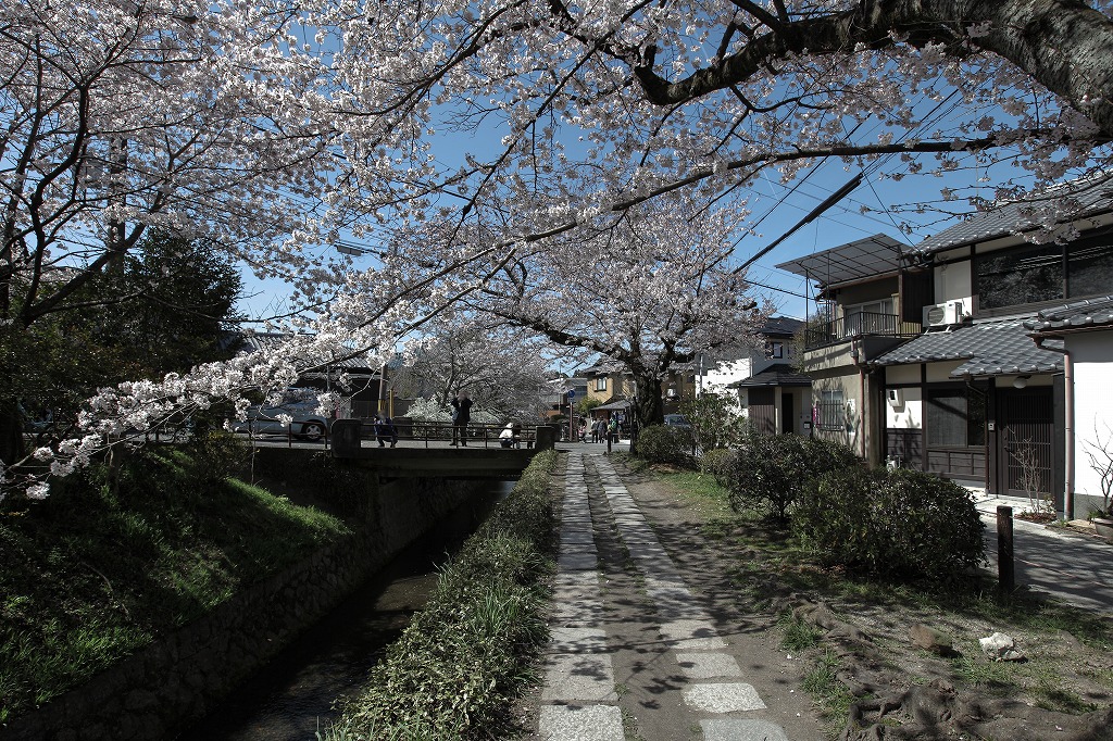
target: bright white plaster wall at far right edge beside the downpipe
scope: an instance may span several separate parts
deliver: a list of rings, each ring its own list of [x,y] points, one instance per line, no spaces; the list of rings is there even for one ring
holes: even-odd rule
[[[1074,490],[1100,497],[1101,478],[1089,453],[1103,444],[1113,453],[1113,330],[1067,335],[1066,348],[1074,359]]]

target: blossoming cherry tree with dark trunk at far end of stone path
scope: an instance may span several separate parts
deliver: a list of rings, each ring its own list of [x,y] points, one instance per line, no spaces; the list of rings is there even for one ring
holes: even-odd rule
[[[699,353],[754,342],[762,312],[731,259],[745,217],[666,196],[516,251],[461,300],[622,366],[639,424],[661,424],[670,373]]]

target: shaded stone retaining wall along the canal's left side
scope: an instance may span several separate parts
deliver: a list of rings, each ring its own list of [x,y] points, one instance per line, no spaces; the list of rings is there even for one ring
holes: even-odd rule
[[[370,482],[361,533],[237,593],[87,684],[10,721],[0,739],[174,738],[483,486],[421,478]]]

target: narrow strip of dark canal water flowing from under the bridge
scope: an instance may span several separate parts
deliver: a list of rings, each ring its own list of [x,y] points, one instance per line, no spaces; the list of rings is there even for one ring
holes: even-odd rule
[[[178,741],[312,741],[355,693],[436,585],[436,570],[506,496],[514,482],[490,488],[413,543],[336,610],[216,707]]]

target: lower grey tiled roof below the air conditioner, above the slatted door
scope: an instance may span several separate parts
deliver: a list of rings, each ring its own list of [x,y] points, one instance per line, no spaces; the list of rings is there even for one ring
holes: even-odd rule
[[[1063,342],[1044,343],[1062,348]],[[966,360],[951,372],[963,376],[999,376],[1018,373],[1062,370],[1063,356],[1036,347],[1023,319],[983,322],[952,332],[929,332],[879,356],[877,365],[906,365],[939,360]]]

